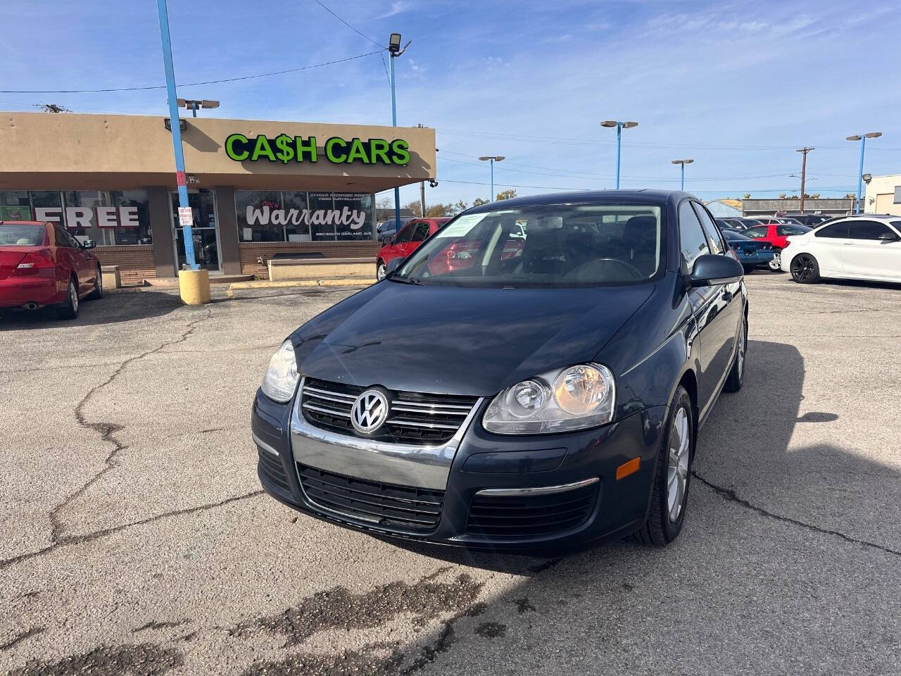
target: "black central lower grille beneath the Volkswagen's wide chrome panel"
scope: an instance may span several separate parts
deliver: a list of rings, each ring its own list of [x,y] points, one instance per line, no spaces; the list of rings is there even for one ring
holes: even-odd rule
[[[320,507],[378,525],[431,531],[441,518],[443,490],[354,479],[297,464],[306,497]]]

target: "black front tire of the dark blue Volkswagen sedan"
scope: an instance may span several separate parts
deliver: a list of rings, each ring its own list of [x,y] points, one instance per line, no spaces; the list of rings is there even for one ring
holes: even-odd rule
[[[680,415],[679,412],[683,413]],[[687,463],[682,470],[678,470],[679,476],[684,471],[684,489],[678,508],[678,515],[671,518],[669,506],[669,446],[671,442],[681,442],[681,438],[673,438],[676,421],[683,421],[687,432]],[[654,488],[651,491],[651,512],[648,520],[633,534],[633,538],[642,544],[651,544],[657,547],[665,547],[678,537],[685,522],[685,513],[688,508],[688,488],[691,485],[691,462],[695,455],[695,416],[692,414],[691,397],[688,397],[686,388],[681,385],[676,388],[669,406],[666,431],[660,442],[660,452],[657,454],[657,470],[654,474]],[[678,434],[676,432],[675,434]],[[681,443],[679,443],[681,447]],[[681,467],[681,466],[680,466]]]

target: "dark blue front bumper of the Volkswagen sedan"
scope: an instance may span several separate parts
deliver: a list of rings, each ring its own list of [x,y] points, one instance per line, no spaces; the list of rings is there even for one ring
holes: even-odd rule
[[[334,524],[470,548],[557,548],[622,536],[641,527],[650,507],[667,407],[647,408],[614,424],[576,433],[502,436],[482,428],[485,406],[487,402],[477,407],[469,420],[443,470],[446,479],[438,486],[440,471],[422,471],[423,447],[409,447],[407,466],[403,459],[359,449],[355,463],[348,463],[345,456],[343,472],[334,471],[333,461],[315,460],[317,453],[324,458],[320,452],[327,452],[321,444],[314,444],[317,453],[305,452],[305,436],[297,434],[297,425],[292,429],[292,405],[278,404],[258,390],[251,429],[259,453],[259,480],[272,497]],[[638,469],[617,480],[617,468],[628,461]],[[409,479],[389,482],[387,476]],[[393,506],[406,500],[414,507],[414,501],[430,500],[428,509],[437,510],[435,523],[410,525],[361,517],[355,509],[323,507],[323,500],[310,497],[314,485],[340,492],[344,504],[370,512],[382,508],[375,507],[383,502],[377,495],[392,496]],[[435,503],[440,504],[434,507]],[[571,511],[575,507],[578,513]]]

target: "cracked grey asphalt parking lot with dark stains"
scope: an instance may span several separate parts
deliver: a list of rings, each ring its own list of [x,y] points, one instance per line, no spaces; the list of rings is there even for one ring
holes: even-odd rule
[[[352,290],[0,320],[0,671],[901,673],[901,287],[758,272],[666,550],[398,547],[262,495],[250,402]]]

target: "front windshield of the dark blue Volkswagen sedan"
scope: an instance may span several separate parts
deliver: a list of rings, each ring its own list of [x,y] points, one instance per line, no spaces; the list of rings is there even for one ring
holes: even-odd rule
[[[595,286],[660,269],[660,206],[541,205],[462,214],[397,269],[393,281],[455,286]]]

